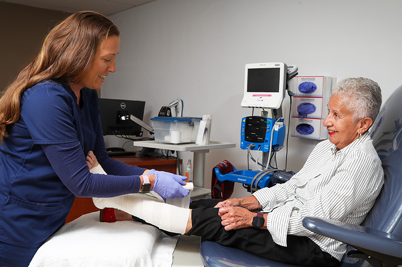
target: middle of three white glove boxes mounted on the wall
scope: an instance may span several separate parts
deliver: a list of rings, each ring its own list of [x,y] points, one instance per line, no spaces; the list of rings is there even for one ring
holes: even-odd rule
[[[329,97],[293,97],[292,117],[301,117],[298,108],[303,103],[310,103],[315,106],[316,110],[313,113],[308,113],[305,118],[325,119],[328,115]]]

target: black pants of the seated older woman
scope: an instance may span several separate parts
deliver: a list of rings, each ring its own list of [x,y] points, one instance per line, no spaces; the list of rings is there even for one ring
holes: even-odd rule
[[[215,201],[216,202],[216,201]],[[268,230],[253,227],[226,231],[221,224],[218,208],[213,201],[194,204],[193,227],[186,235],[202,236],[221,245],[236,247],[266,259],[308,267],[335,267],[339,261],[333,258],[307,237],[288,235],[287,246],[277,245]]]

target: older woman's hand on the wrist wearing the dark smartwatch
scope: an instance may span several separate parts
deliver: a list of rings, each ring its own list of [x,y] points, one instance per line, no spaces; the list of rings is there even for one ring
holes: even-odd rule
[[[252,226],[252,219],[255,216],[255,213],[246,208],[234,206],[219,208],[218,214],[226,231]]]

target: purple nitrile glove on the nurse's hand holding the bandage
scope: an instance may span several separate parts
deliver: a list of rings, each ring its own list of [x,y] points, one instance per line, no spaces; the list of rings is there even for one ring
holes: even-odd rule
[[[163,200],[167,198],[183,198],[190,194],[189,190],[184,189],[181,185],[185,185],[184,181],[187,177],[171,174],[152,169],[148,175],[155,175],[155,183],[152,191],[158,193]]]

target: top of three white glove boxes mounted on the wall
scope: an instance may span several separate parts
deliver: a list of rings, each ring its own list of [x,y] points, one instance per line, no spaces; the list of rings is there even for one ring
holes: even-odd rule
[[[293,92],[293,96],[330,97],[331,88],[335,85],[335,82],[336,79],[327,76],[296,76],[288,85],[289,90]],[[312,88],[314,87],[314,91],[300,91],[303,85],[311,85]]]

